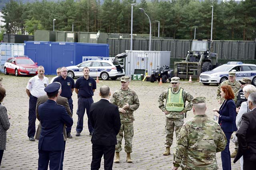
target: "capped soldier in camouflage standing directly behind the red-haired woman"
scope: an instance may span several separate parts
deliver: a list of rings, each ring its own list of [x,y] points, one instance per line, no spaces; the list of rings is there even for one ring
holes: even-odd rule
[[[228,72],[228,80],[222,82],[218,86],[216,99],[218,100],[219,104],[222,104],[224,101],[224,98],[221,98],[221,96],[220,96],[220,88],[221,88],[221,86],[224,86],[224,85],[230,85],[234,94],[241,88],[240,82],[236,81],[236,72],[234,72],[234,71]]]

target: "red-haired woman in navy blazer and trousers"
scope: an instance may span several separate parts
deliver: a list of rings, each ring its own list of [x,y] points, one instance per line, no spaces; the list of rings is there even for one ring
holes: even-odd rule
[[[229,142],[230,137],[236,128],[236,104],[232,100],[234,99],[234,92],[231,86],[221,86],[220,95],[224,98],[220,110],[215,110],[214,115],[219,117],[218,123],[220,124],[221,129],[226,135],[227,145],[226,148],[221,152],[221,161],[223,170],[231,170],[231,157],[229,151]]]

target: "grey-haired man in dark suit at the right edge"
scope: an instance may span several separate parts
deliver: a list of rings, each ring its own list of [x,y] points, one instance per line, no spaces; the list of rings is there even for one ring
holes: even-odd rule
[[[236,132],[238,153],[234,163],[244,156],[244,170],[256,170],[256,92],[250,93],[248,106],[252,111],[242,115],[242,123]]]

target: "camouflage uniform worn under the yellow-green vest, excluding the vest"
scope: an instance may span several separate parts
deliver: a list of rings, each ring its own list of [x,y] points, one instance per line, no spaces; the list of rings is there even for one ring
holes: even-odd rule
[[[172,89],[172,92],[174,94],[178,93],[180,88],[174,92]],[[165,111],[165,104],[164,100],[167,99],[168,96],[168,89],[162,92],[162,94],[159,96],[158,102],[159,102],[159,108],[162,111]],[[184,106],[186,101],[188,101],[188,105],[183,109],[183,112],[186,113],[187,111],[192,109],[192,99],[193,96],[183,90],[182,92],[182,97],[184,101]],[[165,125],[165,131],[166,131],[166,142],[165,142],[165,147],[171,147],[172,142],[173,142],[173,132],[174,132],[174,127],[175,127],[175,133],[178,134],[180,131],[180,128],[182,127],[183,121],[184,121],[184,114],[180,115],[180,112],[178,111],[168,111],[168,115],[166,116],[166,125]]]

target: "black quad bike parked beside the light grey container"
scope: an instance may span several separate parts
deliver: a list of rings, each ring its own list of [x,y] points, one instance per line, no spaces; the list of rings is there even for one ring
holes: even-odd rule
[[[155,82],[158,80],[160,82],[160,78],[162,78],[162,82],[166,83],[167,80],[171,81],[171,78],[173,77],[173,69],[170,69],[168,65],[164,65],[159,68],[157,66],[157,70],[152,70],[152,74],[150,75],[150,82]]]

